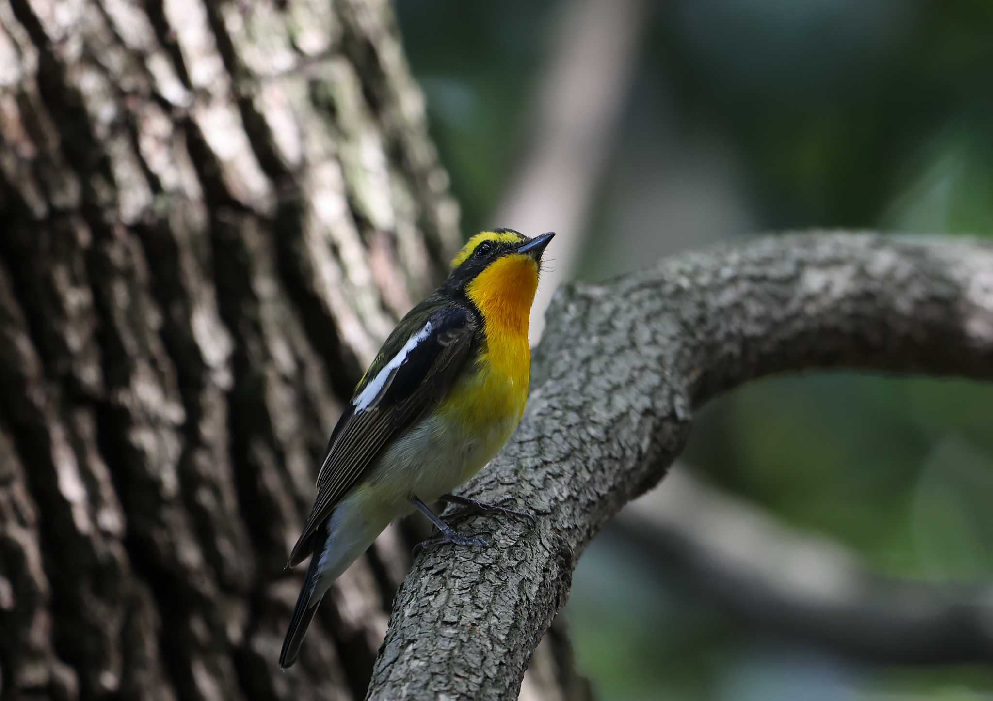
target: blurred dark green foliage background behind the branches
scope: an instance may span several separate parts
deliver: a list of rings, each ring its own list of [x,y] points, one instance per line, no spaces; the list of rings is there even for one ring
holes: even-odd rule
[[[596,1],[395,1],[466,232],[522,228],[494,217],[554,137],[535,118],[557,87],[547,66]],[[580,224],[557,229],[576,245],[559,276],[601,280],[771,229],[993,235],[993,2],[599,2],[636,30]],[[679,469],[878,572],[983,582],[991,408],[988,385],[774,378],[705,410]],[[602,699],[993,698],[988,667],[872,664],[786,639],[639,552],[609,527],[567,607]]]

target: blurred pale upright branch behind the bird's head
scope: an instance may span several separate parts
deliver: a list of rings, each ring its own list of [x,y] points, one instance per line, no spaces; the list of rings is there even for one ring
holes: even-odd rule
[[[571,278],[637,66],[647,10],[643,0],[575,0],[561,10],[555,51],[534,90],[524,162],[493,216],[496,226],[563,234],[534,300],[532,345],[541,337],[552,292]]]

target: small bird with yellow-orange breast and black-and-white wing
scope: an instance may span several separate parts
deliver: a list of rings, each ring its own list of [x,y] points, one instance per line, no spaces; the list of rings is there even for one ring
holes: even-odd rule
[[[523,414],[531,302],[554,236],[512,229],[472,236],[448,279],[397,323],[355,386],[287,564],[311,556],[281,669],[296,661],[332,583],[394,519],[415,511],[427,517],[439,533],[424,547],[483,547],[483,538],[457,532],[428,505],[531,518],[451,492],[497,455]]]

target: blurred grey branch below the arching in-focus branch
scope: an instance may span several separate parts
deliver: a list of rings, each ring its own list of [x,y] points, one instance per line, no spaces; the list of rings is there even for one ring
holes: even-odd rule
[[[869,661],[993,658],[993,586],[878,576],[837,542],[799,532],[679,466],[617,529],[655,571],[793,639]]]

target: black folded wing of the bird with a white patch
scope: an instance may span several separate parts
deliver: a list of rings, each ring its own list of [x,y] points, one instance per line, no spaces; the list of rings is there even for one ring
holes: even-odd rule
[[[391,357],[380,353],[338,419],[318,473],[317,500],[290,553],[291,567],[313,551],[311,536],[380,451],[444,398],[472,355],[477,328],[469,310],[452,305],[408,315],[386,340],[384,348],[399,349]],[[402,345],[397,334],[407,336]]]

